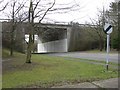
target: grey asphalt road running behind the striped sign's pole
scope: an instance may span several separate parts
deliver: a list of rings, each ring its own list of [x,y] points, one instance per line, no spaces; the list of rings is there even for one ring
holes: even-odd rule
[[[52,53],[52,54],[48,54],[48,55],[106,61],[106,53],[68,52],[68,53]],[[118,54],[110,53],[109,61],[119,63],[118,62]]]

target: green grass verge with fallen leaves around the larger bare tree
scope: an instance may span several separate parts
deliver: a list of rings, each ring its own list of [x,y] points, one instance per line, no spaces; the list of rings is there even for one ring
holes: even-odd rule
[[[111,72],[104,72],[102,65],[68,59],[33,55],[32,63],[26,64],[25,55],[17,53],[3,62],[3,88],[51,87],[118,76],[113,68],[110,68]]]

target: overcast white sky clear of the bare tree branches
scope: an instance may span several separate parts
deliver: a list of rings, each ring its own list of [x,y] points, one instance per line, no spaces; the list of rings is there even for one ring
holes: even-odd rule
[[[78,11],[72,11],[66,14],[50,14],[47,15],[46,18],[50,18],[50,20],[55,20],[57,22],[90,22],[90,18],[97,18],[98,10],[102,10],[103,6],[105,9],[109,9],[109,4],[113,1],[114,0],[56,0],[56,4],[67,4],[73,2],[77,3],[80,8]],[[0,18],[4,17],[3,13],[0,13],[0,16]],[[51,21],[43,20],[43,22]]]

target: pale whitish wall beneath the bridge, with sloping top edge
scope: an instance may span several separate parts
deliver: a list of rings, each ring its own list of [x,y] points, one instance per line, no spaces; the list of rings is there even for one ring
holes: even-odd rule
[[[68,52],[67,39],[38,43],[37,53]]]

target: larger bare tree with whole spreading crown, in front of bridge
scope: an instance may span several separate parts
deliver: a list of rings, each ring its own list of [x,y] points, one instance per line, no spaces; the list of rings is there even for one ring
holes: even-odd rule
[[[34,4],[33,4],[34,3]],[[27,47],[27,57],[26,63],[31,63],[31,52],[34,44],[34,20],[37,19],[39,25],[45,16],[51,13],[67,13],[69,11],[75,11],[80,9],[80,7],[76,4],[70,3],[68,5],[56,5],[55,0],[44,1],[44,0],[36,0],[30,1],[29,7],[29,42]],[[56,6],[56,7],[55,7]],[[40,27],[40,26],[39,26]]]

